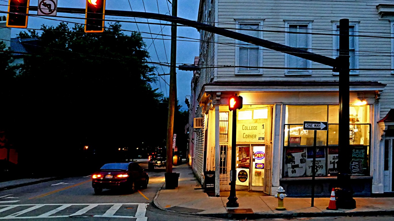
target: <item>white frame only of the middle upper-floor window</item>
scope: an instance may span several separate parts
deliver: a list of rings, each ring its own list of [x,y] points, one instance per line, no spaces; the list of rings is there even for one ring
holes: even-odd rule
[[[307,25],[308,26],[308,30],[312,30],[312,20],[286,20],[284,22],[284,41],[285,41],[285,45],[289,46],[289,26],[290,25]],[[308,33],[310,33],[310,31],[307,31]],[[312,35],[308,34],[308,42],[307,42],[307,47],[308,47],[308,52],[312,52]],[[289,67],[289,54],[285,54],[284,55],[284,65],[285,67]],[[307,60],[307,68],[312,68],[312,61]],[[311,75],[312,74],[312,70],[291,70],[291,69],[285,69],[284,70],[284,74],[286,76],[292,76],[292,75]]]

